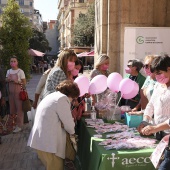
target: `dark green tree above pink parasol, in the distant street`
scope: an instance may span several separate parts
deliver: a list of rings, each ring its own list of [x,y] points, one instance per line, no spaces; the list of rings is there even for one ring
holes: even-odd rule
[[[49,42],[46,39],[46,36],[44,33],[39,32],[35,29],[33,29],[33,36],[29,41],[29,48],[41,51],[41,52],[46,52],[46,51],[51,51],[51,47],[49,46]]]

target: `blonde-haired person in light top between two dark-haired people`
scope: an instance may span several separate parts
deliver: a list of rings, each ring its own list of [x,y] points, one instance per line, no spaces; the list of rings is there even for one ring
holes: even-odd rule
[[[144,68],[145,74],[147,75],[147,78],[140,90],[140,97],[141,97],[140,101],[135,108],[133,108],[130,112],[128,112],[129,114],[136,114],[136,115],[143,114],[144,109],[146,108],[146,105],[148,104],[148,101],[151,98],[151,95],[153,93],[153,89],[156,83],[156,79],[155,79],[155,74],[151,73],[150,71],[150,65],[155,57],[157,56],[148,55],[144,59],[143,68]],[[141,110],[138,111],[139,109]]]

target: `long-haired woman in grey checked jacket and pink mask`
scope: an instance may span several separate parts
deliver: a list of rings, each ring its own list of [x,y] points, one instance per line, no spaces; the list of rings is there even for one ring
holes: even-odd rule
[[[69,79],[75,67],[77,55],[73,50],[66,49],[60,52],[54,68],[50,71],[44,89],[43,98],[55,91],[55,87],[63,80]]]

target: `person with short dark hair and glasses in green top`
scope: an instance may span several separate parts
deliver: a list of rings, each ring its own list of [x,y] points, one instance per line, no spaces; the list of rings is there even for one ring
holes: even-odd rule
[[[129,79],[135,81],[136,83],[138,83],[139,92],[132,99],[127,99],[127,100],[122,99],[121,105],[128,105],[128,106],[130,106],[131,109],[133,109],[134,107],[136,107],[138,105],[138,103],[140,101],[140,89],[142,88],[142,86],[145,82],[145,79],[146,79],[139,72],[142,67],[143,67],[143,63],[138,59],[128,61],[127,68],[125,68],[125,72],[127,73],[126,78],[129,78]]]

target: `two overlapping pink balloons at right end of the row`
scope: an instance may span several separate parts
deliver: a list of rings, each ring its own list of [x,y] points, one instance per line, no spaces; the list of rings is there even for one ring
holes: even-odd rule
[[[135,81],[125,78],[120,82],[119,90],[124,99],[132,99],[138,94],[139,85]]]

